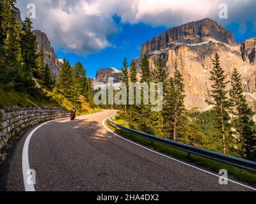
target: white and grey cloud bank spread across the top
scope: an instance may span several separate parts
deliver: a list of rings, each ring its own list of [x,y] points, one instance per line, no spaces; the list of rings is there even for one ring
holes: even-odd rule
[[[86,55],[111,45],[108,37],[123,23],[143,22],[170,27],[205,17],[223,25],[255,18],[255,0],[20,0],[17,6],[26,15],[26,5],[36,5],[35,29],[47,33],[52,43],[65,52]],[[228,5],[228,19],[220,20],[220,3]]]

